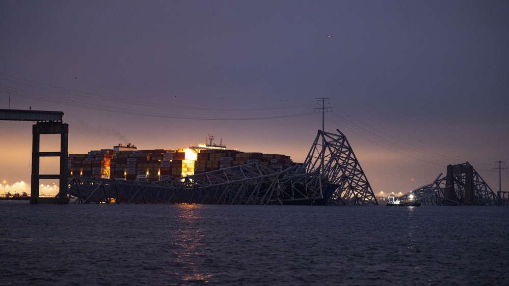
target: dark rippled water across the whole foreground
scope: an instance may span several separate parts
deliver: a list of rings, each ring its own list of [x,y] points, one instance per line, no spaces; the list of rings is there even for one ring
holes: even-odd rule
[[[509,208],[0,201],[0,285],[507,285]]]

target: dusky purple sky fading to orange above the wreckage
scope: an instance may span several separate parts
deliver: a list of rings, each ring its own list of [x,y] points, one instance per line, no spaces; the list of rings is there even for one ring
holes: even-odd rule
[[[0,108],[63,111],[71,154],[210,134],[303,162],[325,116],[377,195],[509,166],[507,1],[1,0],[0,42]],[[30,183],[32,125],[0,121],[0,183]]]

